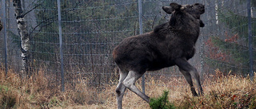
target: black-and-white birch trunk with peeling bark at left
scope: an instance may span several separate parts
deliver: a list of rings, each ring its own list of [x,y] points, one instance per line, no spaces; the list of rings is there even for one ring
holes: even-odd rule
[[[25,15],[22,10],[21,0],[14,0],[14,13],[18,25],[18,34],[21,37],[22,72],[30,76],[30,36],[26,30]]]

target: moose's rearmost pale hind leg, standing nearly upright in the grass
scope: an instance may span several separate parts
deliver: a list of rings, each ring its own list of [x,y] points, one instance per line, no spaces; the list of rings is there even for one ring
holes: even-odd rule
[[[125,94],[126,87],[122,84],[122,81],[125,80],[126,76],[128,74],[128,71],[119,72],[120,78],[118,82],[118,86],[115,89],[116,96],[117,96],[117,102],[118,102],[118,109],[122,109],[122,97]]]

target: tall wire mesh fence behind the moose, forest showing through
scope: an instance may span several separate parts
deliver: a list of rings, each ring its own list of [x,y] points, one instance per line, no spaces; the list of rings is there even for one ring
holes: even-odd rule
[[[53,86],[61,85],[61,80],[62,85],[72,86],[78,82],[78,77],[87,80],[91,87],[118,80],[112,50],[123,38],[140,33],[138,0],[21,1],[30,38],[27,59],[30,72],[44,71]],[[256,60],[254,0],[250,6],[248,0],[142,0],[142,33],[169,20],[162,6],[170,2],[200,2],[206,6],[206,13],[202,14],[206,26],[201,28],[196,54],[190,60],[201,76],[217,68],[227,73],[253,74]],[[0,65],[19,73],[22,69],[21,37],[13,2],[2,0],[1,4],[1,21],[5,26],[0,37]],[[182,75],[178,68],[172,67],[147,72],[146,80],[152,76],[170,80]]]

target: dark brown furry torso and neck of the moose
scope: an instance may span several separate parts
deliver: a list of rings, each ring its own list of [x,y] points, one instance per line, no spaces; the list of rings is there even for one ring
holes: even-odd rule
[[[113,52],[116,64],[145,72],[170,67],[177,58],[189,60],[194,56],[202,23],[193,20],[182,13],[174,14],[170,22],[156,26],[153,32],[124,39]]]

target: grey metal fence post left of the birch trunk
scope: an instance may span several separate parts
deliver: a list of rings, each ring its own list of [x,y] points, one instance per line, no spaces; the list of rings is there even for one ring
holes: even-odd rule
[[[3,9],[3,33],[4,33],[4,46],[5,46],[5,68],[6,68],[6,76],[8,72],[7,65],[7,33],[6,33],[6,0],[2,0],[2,9]]]

